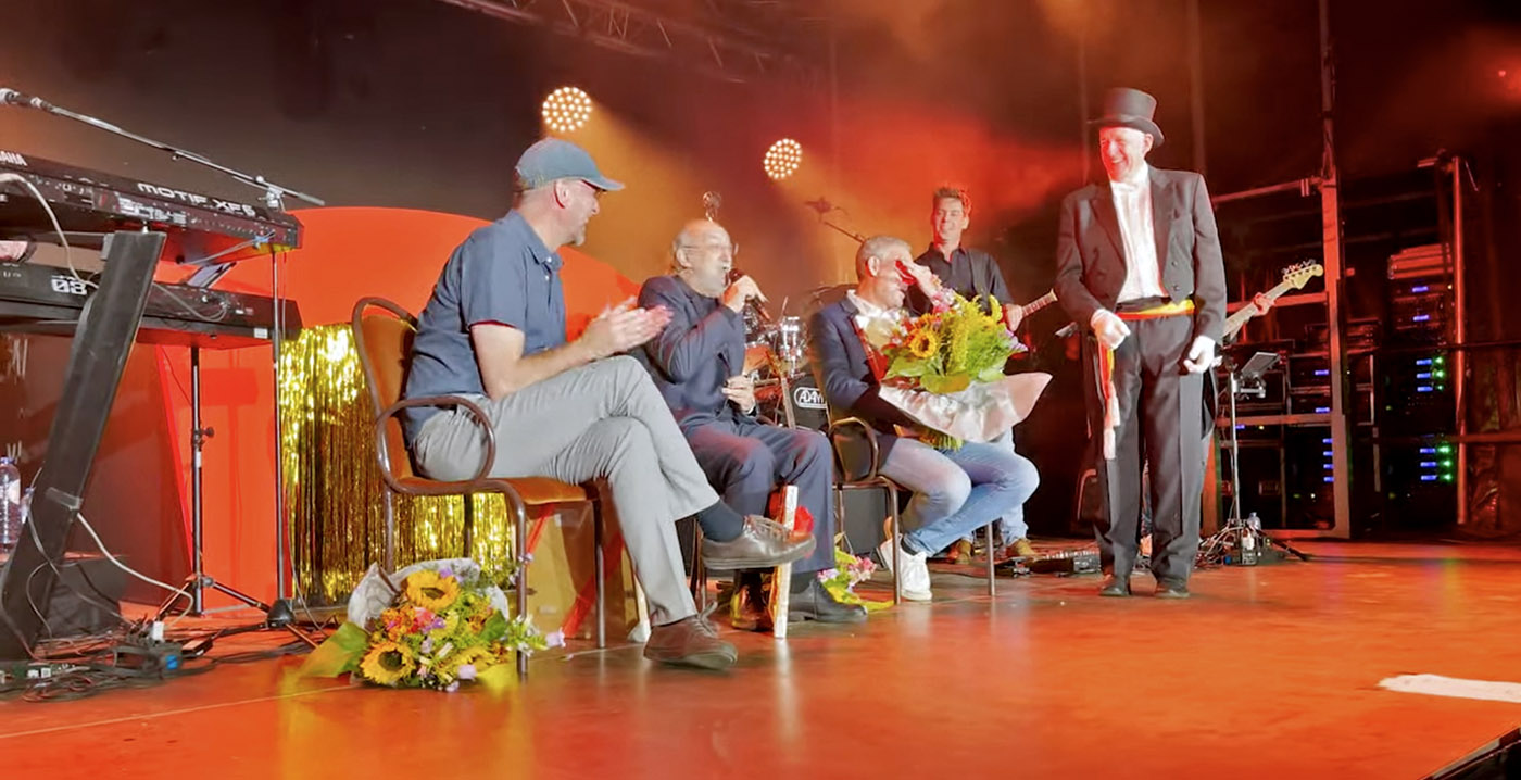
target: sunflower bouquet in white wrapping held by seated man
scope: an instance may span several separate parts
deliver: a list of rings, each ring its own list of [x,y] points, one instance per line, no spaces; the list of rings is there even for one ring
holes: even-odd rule
[[[1049,374],[1005,377],[1004,363],[1024,345],[1004,322],[996,298],[949,293],[932,312],[902,322],[881,347],[887,373],[881,397],[923,424],[934,447],[990,441],[1028,415]]]

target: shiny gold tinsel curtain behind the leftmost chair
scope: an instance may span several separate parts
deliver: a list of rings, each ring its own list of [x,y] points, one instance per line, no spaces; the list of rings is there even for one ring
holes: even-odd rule
[[[350,325],[310,327],[284,342],[278,403],[297,591],[309,604],[341,604],[371,563],[385,561],[374,409]],[[473,500],[473,544],[465,550],[462,499],[399,496],[397,567],[458,555],[505,561],[513,526],[500,496]]]

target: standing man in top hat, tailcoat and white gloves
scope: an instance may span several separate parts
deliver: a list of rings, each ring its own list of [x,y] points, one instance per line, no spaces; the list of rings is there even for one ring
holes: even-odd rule
[[[1100,595],[1130,595],[1150,464],[1156,596],[1182,599],[1199,552],[1202,392],[1226,284],[1203,176],[1145,161],[1162,144],[1154,113],[1156,99],[1139,90],[1106,94],[1094,125],[1107,176],[1062,202],[1056,293],[1092,333],[1084,386],[1109,497],[1097,528]]]

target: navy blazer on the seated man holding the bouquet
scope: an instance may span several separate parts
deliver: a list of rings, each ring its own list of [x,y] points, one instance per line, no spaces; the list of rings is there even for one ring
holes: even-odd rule
[[[893,444],[897,442],[893,426],[916,426],[917,423],[902,409],[878,397],[879,385],[876,376],[872,374],[872,363],[867,362],[865,345],[861,344],[861,336],[856,333],[853,319],[856,313],[850,298],[814,313],[808,331],[812,342],[809,357],[818,386],[824,391],[830,420],[859,417],[879,432],[876,465],[881,467],[881,459],[885,459]],[[847,461],[850,461],[849,455]]]

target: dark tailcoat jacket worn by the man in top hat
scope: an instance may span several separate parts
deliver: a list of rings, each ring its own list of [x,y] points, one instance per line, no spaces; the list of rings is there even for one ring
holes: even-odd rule
[[[1151,169],[1151,230],[1162,289],[1174,303],[1194,300],[1194,336],[1220,344],[1226,319],[1226,271],[1205,178],[1191,170]],[[1088,328],[1098,309],[1115,310],[1126,283],[1126,251],[1109,181],[1089,184],[1062,202],[1056,295],[1068,316]]]

